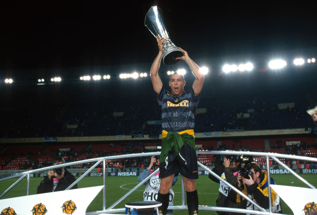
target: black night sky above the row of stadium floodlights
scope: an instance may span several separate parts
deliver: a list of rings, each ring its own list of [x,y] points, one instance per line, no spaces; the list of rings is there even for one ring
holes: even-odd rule
[[[0,69],[152,62],[157,43],[144,26],[152,5],[193,59],[317,46],[313,1],[109,2],[1,2]]]

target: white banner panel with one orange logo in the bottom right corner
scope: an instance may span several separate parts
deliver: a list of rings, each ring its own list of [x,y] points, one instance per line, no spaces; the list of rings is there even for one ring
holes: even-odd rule
[[[271,187],[292,209],[294,214],[315,214],[317,208],[316,189],[283,185],[271,185]]]

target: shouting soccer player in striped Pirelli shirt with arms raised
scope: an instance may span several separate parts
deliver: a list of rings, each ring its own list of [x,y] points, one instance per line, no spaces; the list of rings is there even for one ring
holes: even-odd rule
[[[159,178],[161,179],[158,201],[161,214],[166,213],[168,207],[169,190],[174,176],[180,173],[183,176],[186,189],[187,206],[190,215],[198,212],[198,194],[195,179],[198,178],[197,157],[195,151],[195,111],[200,99],[200,92],[204,83],[204,75],[199,67],[188,56],[187,52],[179,48],[184,55],[177,57],[185,61],[196,77],[192,88],[185,92],[184,76],[174,73],[170,76],[171,92],[164,89],[158,75],[163,55],[165,38],[156,37],[159,54],[151,67],[151,79],[157,100],[162,108],[162,150],[159,164]]]

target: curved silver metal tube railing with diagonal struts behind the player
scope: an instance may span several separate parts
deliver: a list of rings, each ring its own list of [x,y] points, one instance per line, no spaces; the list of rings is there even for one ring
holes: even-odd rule
[[[197,154],[233,154],[233,155],[249,155],[249,156],[264,156],[266,157],[266,170],[267,170],[267,176],[270,178],[270,164],[269,159],[275,160],[278,164],[280,164],[282,167],[287,169],[290,173],[292,173],[294,176],[296,176],[298,179],[300,179],[303,183],[305,183],[310,188],[316,189],[313,185],[311,185],[306,179],[302,178],[300,175],[295,173],[291,168],[289,168],[287,165],[285,165],[283,162],[281,162],[278,158],[286,158],[286,159],[292,159],[292,160],[306,160],[306,161],[312,161],[317,162],[317,158],[311,158],[311,157],[304,157],[304,156],[297,156],[297,155],[287,155],[287,154],[278,154],[278,153],[264,153],[264,152],[244,152],[244,151],[196,151]],[[107,156],[107,157],[101,157],[101,158],[93,158],[93,159],[87,159],[87,160],[79,160],[74,161],[70,163],[65,164],[58,164],[55,165],[54,168],[60,168],[64,166],[71,166],[76,164],[82,164],[82,163],[90,163],[90,162],[96,162],[92,167],[87,169],[85,173],[83,173],[74,183],[72,183],[66,190],[73,187],[78,181],[80,181],[84,176],[86,176],[89,172],[91,172],[96,166],[98,166],[101,162],[103,162],[103,205],[102,210],[95,211],[95,212],[87,212],[87,215],[98,215],[101,213],[117,213],[117,212],[125,212],[125,208],[114,208],[116,205],[118,205],[123,199],[125,199],[128,195],[130,195],[133,191],[135,191],[138,187],[140,187],[146,180],[150,179],[155,173],[157,173],[159,170],[155,170],[152,174],[150,174],[146,179],[141,181],[138,185],[136,185],[133,189],[131,189],[129,192],[127,192],[124,196],[122,196],[120,199],[118,199],[116,202],[113,203],[110,207],[106,208],[106,161],[107,160],[114,160],[114,159],[120,159],[120,158],[131,158],[133,157],[144,157],[144,156],[159,156],[160,152],[151,152],[151,153],[136,153],[136,154],[125,154],[125,155],[115,155],[115,156]],[[197,164],[201,166],[204,170],[211,173],[213,176],[215,176],[217,179],[221,180],[223,183],[228,185],[231,189],[239,193],[242,197],[247,199],[248,201],[252,202],[256,207],[260,209],[260,211],[252,211],[247,209],[238,209],[238,208],[227,208],[227,207],[215,207],[215,206],[199,206],[199,210],[207,210],[207,211],[224,211],[224,212],[240,212],[240,213],[249,213],[249,214],[269,214],[273,215],[276,213],[272,213],[272,195],[271,195],[271,189],[268,189],[269,194],[269,209],[268,211],[262,208],[260,205],[255,203],[252,199],[250,199],[248,196],[246,196],[244,193],[242,193],[240,190],[238,190],[236,187],[232,186],[230,183],[228,183],[226,180],[222,179],[220,176],[218,176],[216,173],[211,171],[207,166],[197,161]],[[27,187],[26,187],[26,195],[29,195],[29,182],[30,182],[30,174],[32,173],[38,173],[42,171],[47,171],[49,169],[52,169],[52,166],[43,167],[40,169],[35,170],[29,170],[25,171],[23,173],[17,173],[14,175],[10,175],[7,177],[0,178],[0,181],[17,178],[19,179],[14,182],[8,189],[6,189],[1,195],[0,199],[9,192],[14,186],[16,186],[22,179],[25,177],[27,178]],[[268,187],[270,187],[270,180],[268,180]],[[185,189],[184,189],[184,183],[182,178],[182,205],[173,205],[169,206],[169,209],[172,210],[187,210],[187,206],[185,205]]]

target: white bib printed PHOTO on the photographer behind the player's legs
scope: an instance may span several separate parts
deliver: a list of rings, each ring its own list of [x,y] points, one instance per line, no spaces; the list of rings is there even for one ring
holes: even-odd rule
[[[153,173],[153,170],[150,170],[150,174]],[[159,173],[156,173],[150,178],[149,183],[146,185],[145,191],[143,192],[143,201],[157,201],[159,186],[161,180],[159,179]],[[173,205],[174,192],[172,188],[170,189],[169,195],[169,205]]]

